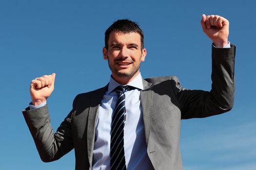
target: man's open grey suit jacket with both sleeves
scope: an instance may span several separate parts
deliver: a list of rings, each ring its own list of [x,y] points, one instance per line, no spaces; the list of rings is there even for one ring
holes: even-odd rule
[[[143,80],[140,93],[147,153],[156,170],[182,170],[180,120],[204,118],[229,111],[234,103],[235,46],[212,51],[212,90],[183,88],[177,77]],[[47,105],[23,111],[44,162],[75,149],[76,170],[91,170],[98,108],[107,86],[79,94],[73,109],[54,134]]]

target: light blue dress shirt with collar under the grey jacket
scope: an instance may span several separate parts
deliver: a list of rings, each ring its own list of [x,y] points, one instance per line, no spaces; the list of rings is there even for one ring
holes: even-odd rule
[[[110,78],[108,91],[103,96],[99,110],[95,132],[93,151],[93,170],[110,170],[110,131],[113,110],[117,102],[118,85]],[[143,90],[140,74],[128,85],[136,87],[126,91],[125,108],[126,122],[124,126],[124,155],[127,170],[154,170],[147,154],[140,90]]]

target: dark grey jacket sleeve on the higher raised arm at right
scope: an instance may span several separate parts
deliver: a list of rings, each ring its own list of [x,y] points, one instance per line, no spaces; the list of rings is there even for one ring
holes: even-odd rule
[[[235,94],[236,47],[212,47],[212,89],[211,91],[188,90],[183,88],[177,77],[175,93],[180,105],[181,119],[205,118],[232,109]]]

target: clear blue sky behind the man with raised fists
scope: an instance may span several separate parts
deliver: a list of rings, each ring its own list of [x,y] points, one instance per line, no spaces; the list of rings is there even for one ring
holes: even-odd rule
[[[253,0],[1,0],[0,170],[73,170],[74,151],[43,163],[21,110],[30,81],[56,72],[47,101],[56,131],[78,93],[108,83],[104,31],[118,18],[137,21],[147,56],[142,77],[177,75],[186,88],[210,90],[211,40],[201,15],[230,21],[236,45],[235,105],[229,113],[182,120],[184,170],[256,170],[256,52]]]

